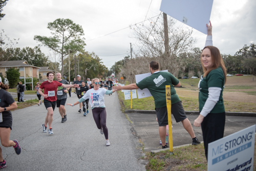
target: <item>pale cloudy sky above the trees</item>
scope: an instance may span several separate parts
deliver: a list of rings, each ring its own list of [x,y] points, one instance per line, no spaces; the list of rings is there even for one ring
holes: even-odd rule
[[[138,43],[126,27],[160,14],[160,5],[161,0],[9,0],[0,29],[10,38],[19,38],[16,47],[35,47],[38,42],[34,35],[51,36],[48,23],[69,18],[82,26],[86,51],[95,52],[110,69],[115,61],[130,54],[130,43]],[[245,44],[256,43],[255,9],[255,0],[214,0],[210,20],[214,46],[221,53],[233,55]],[[195,47],[203,48],[206,35],[194,29],[193,37],[197,38]],[[49,52],[48,48],[41,50]]]

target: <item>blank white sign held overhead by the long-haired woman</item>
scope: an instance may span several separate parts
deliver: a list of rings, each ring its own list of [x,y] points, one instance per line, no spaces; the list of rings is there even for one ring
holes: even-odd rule
[[[160,11],[180,22],[207,34],[214,0],[162,0]]]

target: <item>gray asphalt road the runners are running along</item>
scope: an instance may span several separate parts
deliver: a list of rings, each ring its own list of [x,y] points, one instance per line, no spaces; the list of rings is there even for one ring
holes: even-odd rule
[[[16,97],[16,95],[13,95]],[[25,95],[27,98],[36,95]],[[67,103],[78,98],[72,93]],[[22,153],[16,155],[12,147],[2,147],[7,162],[5,170],[145,170],[141,164],[138,138],[131,132],[130,122],[120,111],[117,94],[105,95],[106,125],[111,145],[105,146],[92,117],[78,113],[78,105],[66,106],[67,121],[61,123],[56,108],[53,115],[53,135],[43,133],[47,110],[44,104],[13,111],[10,139],[17,139]]]

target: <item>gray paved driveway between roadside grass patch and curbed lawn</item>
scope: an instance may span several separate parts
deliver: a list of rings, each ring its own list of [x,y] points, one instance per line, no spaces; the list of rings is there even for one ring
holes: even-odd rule
[[[149,113],[126,113],[126,115],[133,122],[132,126],[135,134],[144,143],[145,151],[154,151],[161,149],[162,146],[159,144],[160,137],[158,132],[158,122],[156,121],[156,114]],[[196,137],[203,141],[201,127],[195,127],[193,125],[194,120],[198,115],[187,115],[188,120],[191,122]],[[191,144],[192,139],[184,129],[181,122],[176,123],[173,115],[173,145],[180,146],[185,144]],[[245,129],[256,123],[256,117],[251,116],[226,116],[226,124],[224,136],[233,134],[240,130]]]

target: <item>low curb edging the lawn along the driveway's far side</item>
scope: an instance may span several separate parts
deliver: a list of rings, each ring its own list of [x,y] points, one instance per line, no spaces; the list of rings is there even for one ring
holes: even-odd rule
[[[155,114],[155,110],[125,110],[124,113],[146,113]],[[199,111],[185,111],[186,115],[199,115]],[[226,112],[228,116],[253,116],[256,117],[255,112]]]

